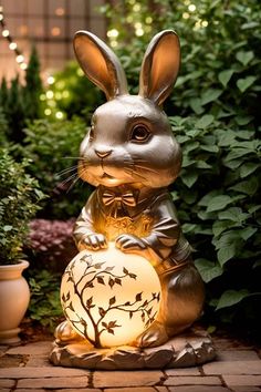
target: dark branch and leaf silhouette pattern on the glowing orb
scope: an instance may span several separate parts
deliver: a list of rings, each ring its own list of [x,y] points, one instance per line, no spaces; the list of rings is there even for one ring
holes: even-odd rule
[[[118,310],[122,312],[127,312],[129,320],[133,319],[134,314],[137,313],[140,316],[140,319],[145,326],[148,328],[150,323],[155,320],[156,313],[152,314],[154,303],[158,302],[160,299],[160,292],[152,292],[150,298],[143,300],[143,291],[137,292],[135,298],[128,301],[124,301],[119,303],[116,296],[112,296],[108,299],[107,307],[98,307],[94,303],[93,296],[85,298],[85,291],[90,289],[94,289],[95,285],[103,285],[108,288],[108,290],[113,290],[115,285],[122,286],[124,279],[134,279],[136,280],[136,274],[130,272],[127,268],[122,269],[122,275],[114,274],[114,267],[103,268],[105,262],[93,262],[92,256],[84,255],[81,257],[80,262],[84,264],[84,272],[80,278],[75,278],[76,274],[74,274],[75,261],[69,265],[65,269],[64,277],[66,277],[66,282],[72,283],[73,292],[77,297],[82,309],[84,310],[86,318],[79,316],[75,310],[71,299],[70,291],[66,295],[62,295],[61,302],[63,307],[63,312],[65,317],[73,323],[73,327],[80,334],[84,334],[88,341],[95,347],[100,348],[101,344],[101,336],[104,332],[109,334],[115,334],[115,329],[121,328],[122,326],[117,320],[104,321],[105,317],[107,319],[109,312],[112,310]],[[143,302],[143,303],[140,303]],[[97,310],[98,319],[95,320],[93,310]],[[72,318],[73,312],[73,318]],[[88,322],[86,321],[88,320]],[[90,328],[94,331],[94,338],[90,336]]]

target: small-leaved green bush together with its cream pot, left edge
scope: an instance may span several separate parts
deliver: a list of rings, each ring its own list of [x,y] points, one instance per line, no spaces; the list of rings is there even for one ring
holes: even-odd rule
[[[0,148],[0,343],[20,340],[19,324],[27,311],[30,291],[22,271],[22,246],[29,223],[44,197],[38,182],[27,174],[28,159],[15,162]]]

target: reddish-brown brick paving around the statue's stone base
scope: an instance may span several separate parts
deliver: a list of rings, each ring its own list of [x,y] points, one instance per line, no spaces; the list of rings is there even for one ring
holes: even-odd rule
[[[260,352],[216,341],[216,361],[186,369],[88,371],[53,367],[52,341],[0,345],[0,392],[261,392]]]

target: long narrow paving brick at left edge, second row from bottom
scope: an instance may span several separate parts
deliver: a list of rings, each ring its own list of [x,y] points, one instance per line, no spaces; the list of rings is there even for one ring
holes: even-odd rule
[[[39,379],[44,376],[80,376],[88,375],[87,370],[71,368],[9,368],[0,369],[0,379]]]

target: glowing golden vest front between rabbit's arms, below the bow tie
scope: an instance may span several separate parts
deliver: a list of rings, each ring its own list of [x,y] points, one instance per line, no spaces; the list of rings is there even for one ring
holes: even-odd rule
[[[146,237],[150,234],[152,226],[153,218],[144,214],[136,218],[130,218],[128,216],[121,218],[104,216],[97,224],[97,231],[103,233],[107,240],[113,241],[122,234]]]

